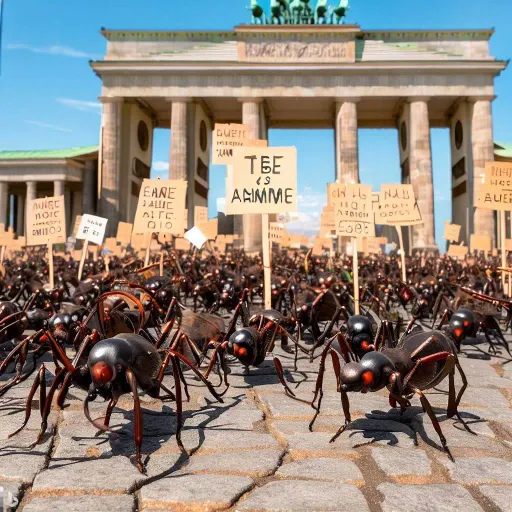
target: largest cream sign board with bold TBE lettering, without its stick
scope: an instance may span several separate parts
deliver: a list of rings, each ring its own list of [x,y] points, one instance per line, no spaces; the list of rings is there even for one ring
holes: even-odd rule
[[[237,148],[226,188],[228,215],[297,211],[297,149]]]

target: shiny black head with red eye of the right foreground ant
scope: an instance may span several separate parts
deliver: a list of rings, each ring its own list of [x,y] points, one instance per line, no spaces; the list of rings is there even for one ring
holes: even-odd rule
[[[343,391],[377,391],[389,383],[394,371],[391,360],[382,352],[368,352],[359,363],[347,363],[341,369],[341,389]]]

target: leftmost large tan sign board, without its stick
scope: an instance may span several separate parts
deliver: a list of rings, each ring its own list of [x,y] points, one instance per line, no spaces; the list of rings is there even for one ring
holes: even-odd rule
[[[27,245],[65,242],[64,196],[32,199],[27,211]]]

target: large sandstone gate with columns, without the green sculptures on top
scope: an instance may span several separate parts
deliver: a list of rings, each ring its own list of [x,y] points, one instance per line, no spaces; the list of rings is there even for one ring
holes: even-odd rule
[[[473,188],[493,160],[492,30],[365,31],[356,25],[242,25],[225,32],[103,30],[99,213],[116,226],[135,214],[149,177],[154,128],[170,128],[169,177],[189,182],[189,225],[207,205],[214,123],[334,128],[336,176],[359,180],[358,128],[396,128],[402,182],[424,224],[413,248],[435,246],[431,127],[450,128],[452,221],[493,234],[494,212],[474,211]],[[300,154],[299,154],[300,159]],[[310,169],[308,172],[316,172]],[[379,172],[379,169],[374,169]],[[450,172],[446,169],[446,172]],[[235,220],[246,250],[261,246],[257,215]]]

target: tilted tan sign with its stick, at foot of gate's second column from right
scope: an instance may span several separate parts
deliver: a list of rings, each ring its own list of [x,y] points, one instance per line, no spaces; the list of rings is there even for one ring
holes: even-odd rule
[[[400,244],[402,281],[407,282],[402,226],[423,224],[414,190],[412,185],[385,184],[381,186],[380,194],[375,195],[374,199],[377,199],[374,201],[375,223],[396,227]]]

